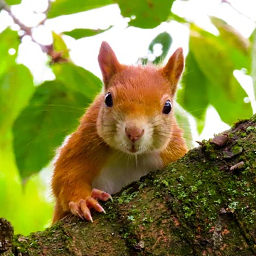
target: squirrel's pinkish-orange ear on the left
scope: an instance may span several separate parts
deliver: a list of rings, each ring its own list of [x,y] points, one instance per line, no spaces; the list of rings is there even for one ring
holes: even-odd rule
[[[107,87],[112,75],[117,73],[121,68],[114,51],[107,42],[102,42],[100,46],[98,61],[103,76],[103,82],[105,83],[105,87]]]

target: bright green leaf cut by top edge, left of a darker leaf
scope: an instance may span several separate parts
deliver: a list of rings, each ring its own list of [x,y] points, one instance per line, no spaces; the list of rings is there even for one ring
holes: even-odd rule
[[[114,4],[112,0],[56,0],[50,6],[48,18],[55,18],[60,15],[76,14],[81,11],[87,11],[100,8],[108,4]]]

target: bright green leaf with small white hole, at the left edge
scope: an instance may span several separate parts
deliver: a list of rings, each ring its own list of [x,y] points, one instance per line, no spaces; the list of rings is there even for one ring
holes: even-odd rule
[[[16,31],[11,31],[11,29],[6,29],[0,33],[0,75],[6,73],[6,70],[15,65],[15,60],[17,57],[18,46],[20,44],[18,33]],[[9,50],[13,49],[14,54],[11,55]]]

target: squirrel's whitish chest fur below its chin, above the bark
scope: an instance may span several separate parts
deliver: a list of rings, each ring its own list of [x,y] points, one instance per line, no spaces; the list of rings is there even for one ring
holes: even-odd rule
[[[95,178],[92,188],[97,188],[107,193],[117,193],[124,186],[133,181],[138,181],[150,171],[163,167],[163,162],[158,152],[131,156],[117,153],[107,162]]]

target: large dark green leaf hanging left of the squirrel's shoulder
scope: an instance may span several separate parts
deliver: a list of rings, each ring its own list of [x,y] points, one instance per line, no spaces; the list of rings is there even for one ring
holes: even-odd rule
[[[14,123],[14,152],[22,178],[40,171],[78,126],[90,100],[60,81],[44,82]]]

